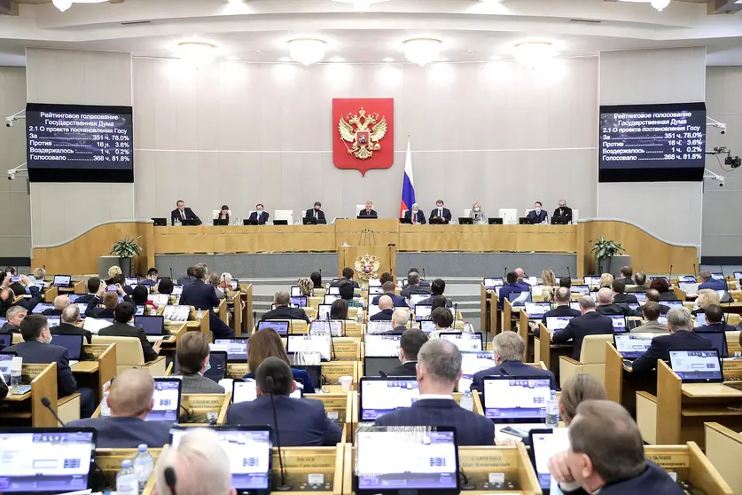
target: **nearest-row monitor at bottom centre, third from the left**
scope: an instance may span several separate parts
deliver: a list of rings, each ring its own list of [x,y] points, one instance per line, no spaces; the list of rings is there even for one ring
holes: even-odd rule
[[[456,428],[419,428],[410,435],[402,428],[374,427],[355,436],[352,488],[357,495],[458,493],[460,480]]]

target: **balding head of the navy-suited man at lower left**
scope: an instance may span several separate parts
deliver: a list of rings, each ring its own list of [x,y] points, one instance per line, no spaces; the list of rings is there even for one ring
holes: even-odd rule
[[[111,384],[108,407],[115,417],[144,417],[152,410],[152,374],[131,368],[119,373]]]

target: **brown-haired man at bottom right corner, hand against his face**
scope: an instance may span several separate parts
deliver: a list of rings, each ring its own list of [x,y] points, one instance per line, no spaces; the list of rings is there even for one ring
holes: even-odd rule
[[[637,423],[620,404],[586,400],[578,405],[569,443],[549,460],[565,495],[683,495],[667,471],[646,459]]]

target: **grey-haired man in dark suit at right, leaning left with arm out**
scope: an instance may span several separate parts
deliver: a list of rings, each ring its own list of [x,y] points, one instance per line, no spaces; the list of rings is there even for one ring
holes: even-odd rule
[[[631,366],[634,373],[646,373],[657,367],[657,361],[668,361],[670,350],[704,350],[711,349],[711,342],[701,334],[692,332],[691,311],[685,308],[673,308],[668,312],[669,335],[660,335],[652,339],[649,349],[634,360]]]

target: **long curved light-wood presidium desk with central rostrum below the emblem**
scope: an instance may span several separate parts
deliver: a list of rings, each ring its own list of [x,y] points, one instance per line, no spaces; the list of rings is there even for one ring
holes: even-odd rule
[[[573,254],[578,277],[594,265],[590,246],[600,236],[615,240],[631,255],[635,271],[691,273],[699,263],[698,248],[660,240],[640,226],[617,220],[581,220],[571,225],[410,225],[397,219],[340,219],[329,225],[229,225],[154,227],[151,220],[99,224],[72,240],[34,247],[32,266],[48,273],[98,272],[98,256],[111,244],[140,237],[144,250],[137,271],[154,266],[155,255],[169,254],[339,254],[340,267],[358,256],[375,256],[381,271],[393,270],[395,253],[554,253]],[[486,267],[483,267],[486,271]]]

